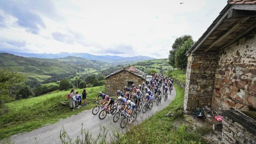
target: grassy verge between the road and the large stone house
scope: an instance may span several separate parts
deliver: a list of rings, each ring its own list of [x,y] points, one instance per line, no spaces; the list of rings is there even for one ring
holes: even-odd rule
[[[121,143],[167,143],[167,144],[205,144],[199,135],[189,129],[181,120],[183,118],[184,90],[174,84],[176,97],[163,110],[156,112],[152,117],[141,124],[129,129],[121,136]],[[174,117],[165,117],[171,111]]]

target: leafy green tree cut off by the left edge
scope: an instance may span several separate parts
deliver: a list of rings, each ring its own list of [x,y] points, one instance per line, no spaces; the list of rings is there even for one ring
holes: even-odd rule
[[[0,107],[13,100],[9,88],[22,82],[25,76],[8,69],[0,69]]]

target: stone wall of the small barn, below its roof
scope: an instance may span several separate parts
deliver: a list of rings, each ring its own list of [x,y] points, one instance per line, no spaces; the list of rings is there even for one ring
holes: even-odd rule
[[[115,96],[117,90],[124,90],[124,86],[128,85],[128,81],[132,81],[135,86],[139,86],[142,82],[145,82],[145,80],[140,77],[130,72],[123,71],[105,79],[106,94]]]

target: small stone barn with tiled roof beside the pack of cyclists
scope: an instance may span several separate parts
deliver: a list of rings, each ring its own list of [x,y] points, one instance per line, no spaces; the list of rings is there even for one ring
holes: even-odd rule
[[[144,72],[133,66],[128,66],[105,77],[105,92],[110,96],[115,96],[117,90],[124,90],[124,86],[131,88],[132,84],[139,86],[145,81],[146,74]]]

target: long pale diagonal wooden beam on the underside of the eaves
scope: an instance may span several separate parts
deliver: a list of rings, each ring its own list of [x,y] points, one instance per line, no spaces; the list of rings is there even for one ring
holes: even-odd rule
[[[225,34],[223,34],[221,37],[219,37],[216,41],[214,41],[210,46],[208,46],[206,49],[204,49],[204,52],[207,52],[210,50],[215,44],[223,40],[225,37],[227,37],[230,33],[232,33],[236,28],[238,28],[241,24],[243,24],[246,20],[248,20],[250,17],[243,17],[238,20],[238,22],[232,26]]]

